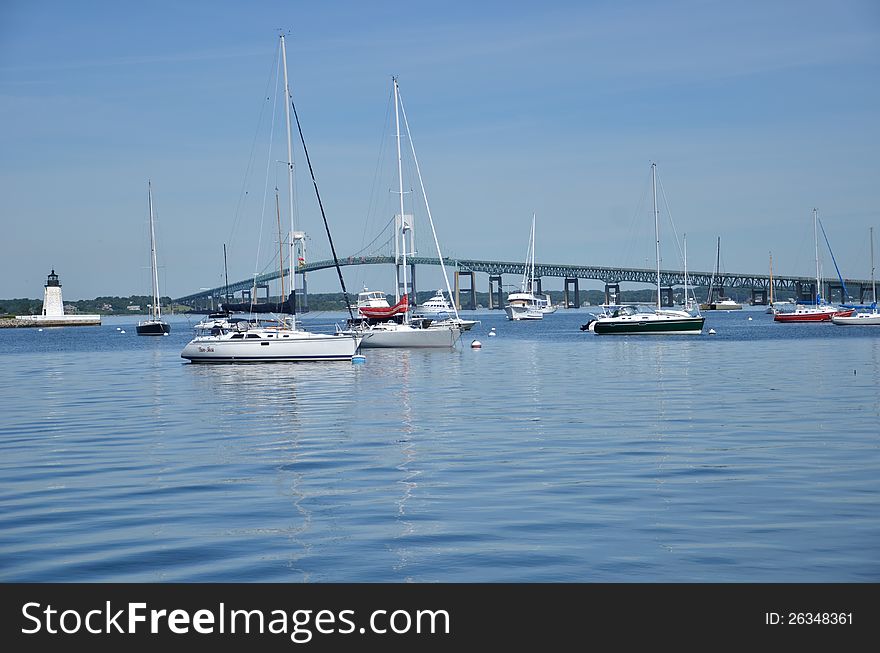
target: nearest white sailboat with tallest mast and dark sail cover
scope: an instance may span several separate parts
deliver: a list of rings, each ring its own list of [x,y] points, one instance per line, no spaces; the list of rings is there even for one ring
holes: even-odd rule
[[[288,162],[293,160],[290,138],[290,106],[293,96],[287,80],[287,51],[284,44],[284,35],[281,35],[281,59],[284,69],[284,106],[287,118],[287,153]],[[300,133],[301,135],[301,133]],[[303,150],[308,160],[308,150]],[[311,168],[311,164],[309,165]],[[293,206],[293,166],[288,164],[288,192],[290,205]],[[313,178],[314,181],[314,178]],[[317,191],[317,185],[315,186]],[[323,209],[322,209],[323,212]],[[293,220],[291,208],[291,221]],[[279,218],[280,220],[280,218]],[[326,219],[325,219],[326,226]],[[292,229],[291,232],[294,230]],[[327,236],[330,239],[330,231],[327,228]],[[331,249],[333,241],[330,239]],[[334,259],[336,257],[335,249]],[[280,257],[279,257],[280,258]],[[284,263],[279,260],[281,279],[284,279]],[[289,268],[293,270],[293,265]],[[337,262],[337,272],[340,283],[342,273]],[[293,274],[291,272],[291,278]],[[345,292],[344,283],[343,292]],[[291,281],[291,290],[293,283]],[[282,296],[284,295],[282,281]],[[181,358],[193,363],[222,363],[222,362],[276,362],[276,361],[350,361],[360,346],[359,334],[342,333],[312,333],[297,327],[296,316],[293,314],[295,304],[293,293],[290,300],[282,302],[283,310],[290,314],[279,314],[270,320],[244,320],[226,321],[218,323],[207,333],[197,335],[181,352]]]

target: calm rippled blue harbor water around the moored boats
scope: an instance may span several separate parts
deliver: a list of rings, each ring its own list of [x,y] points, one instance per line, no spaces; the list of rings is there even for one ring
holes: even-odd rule
[[[880,580],[880,328],[477,317],[363,365],[0,330],[0,581]]]

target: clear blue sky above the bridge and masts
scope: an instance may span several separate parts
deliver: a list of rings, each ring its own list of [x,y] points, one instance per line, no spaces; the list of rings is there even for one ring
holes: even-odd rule
[[[266,169],[271,184],[280,175],[258,125],[279,28],[341,255],[393,212],[380,152],[398,75],[446,255],[522,260],[534,212],[539,262],[653,266],[656,161],[690,269],[711,271],[720,236],[726,272],[764,273],[772,252],[774,273],[810,276],[817,207],[843,274],[870,275],[874,0],[7,0],[0,297],[41,297],[53,267],[65,299],[148,293],[148,179],[163,294],[221,285],[224,243],[231,280],[271,265],[262,194]],[[298,226],[309,258],[325,258],[301,158],[297,171]],[[663,267],[680,267],[663,224]],[[427,233],[417,223],[430,254]],[[823,273],[834,274],[824,251]],[[345,276],[349,289],[393,290],[389,270]],[[432,270],[420,281],[439,286]],[[329,271],[310,279],[337,289]]]

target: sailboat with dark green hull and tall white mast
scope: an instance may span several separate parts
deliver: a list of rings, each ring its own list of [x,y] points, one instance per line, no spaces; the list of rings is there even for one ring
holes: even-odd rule
[[[582,331],[592,331],[597,335],[635,335],[635,334],[693,334],[703,331],[706,320],[699,311],[663,308],[660,290],[660,220],[657,210],[657,164],[651,164],[651,188],[654,195],[654,239],[657,258],[657,305],[619,306],[613,311],[594,316],[581,327]],[[685,294],[687,288],[685,288]]]

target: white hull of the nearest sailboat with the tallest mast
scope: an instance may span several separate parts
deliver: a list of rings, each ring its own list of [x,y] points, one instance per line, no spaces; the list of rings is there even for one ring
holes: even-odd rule
[[[232,340],[227,335],[193,338],[180,353],[193,363],[349,361],[360,344],[350,335],[294,331],[273,339]],[[282,339],[283,338],[283,339]]]

